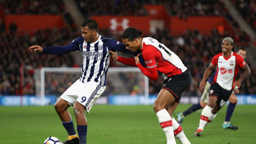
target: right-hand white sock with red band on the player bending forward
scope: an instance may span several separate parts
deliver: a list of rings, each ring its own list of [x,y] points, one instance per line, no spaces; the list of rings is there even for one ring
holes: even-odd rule
[[[175,138],[180,140],[182,144],[191,144],[188,141],[186,135],[184,134],[182,127],[180,126],[180,124],[178,124],[178,122],[174,119],[174,117],[172,117],[172,127],[174,129]]]

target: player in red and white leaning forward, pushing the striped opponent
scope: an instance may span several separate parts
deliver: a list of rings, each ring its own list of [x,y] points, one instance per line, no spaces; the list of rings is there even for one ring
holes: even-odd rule
[[[182,92],[190,86],[190,72],[174,52],[154,38],[141,38],[142,33],[142,31],[130,27],[122,34],[122,41],[126,45],[126,49],[132,53],[141,51],[135,59],[118,57],[116,53],[110,52],[115,60],[137,66],[151,80],[158,78],[158,71],[165,75],[164,85],[154,102],[154,111],[165,132],[167,144],[176,144],[174,137],[178,138],[182,144],[190,144],[181,126],[172,117],[172,113],[180,102]],[[140,63],[140,55],[142,55],[146,67]]]

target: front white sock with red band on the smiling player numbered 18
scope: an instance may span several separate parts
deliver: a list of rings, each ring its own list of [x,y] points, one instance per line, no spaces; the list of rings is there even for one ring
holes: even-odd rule
[[[201,113],[201,118],[200,118],[198,129],[203,130],[203,128],[211,121],[211,120],[209,120],[209,117],[212,113],[211,111],[212,111],[212,108],[209,107],[208,105],[206,105],[206,107],[204,107],[204,109]],[[216,114],[215,114],[215,117],[216,117]],[[212,118],[212,119],[214,119],[214,118]]]

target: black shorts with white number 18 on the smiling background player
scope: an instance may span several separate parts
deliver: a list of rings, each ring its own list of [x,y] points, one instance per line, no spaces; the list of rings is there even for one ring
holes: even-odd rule
[[[228,101],[230,95],[232,94],[232,91],[233,90],[225,90],[217,82],[213,82],[209,90],[209,97],[216,96],[218,98],[216,104],[217,106],[222,108]]]

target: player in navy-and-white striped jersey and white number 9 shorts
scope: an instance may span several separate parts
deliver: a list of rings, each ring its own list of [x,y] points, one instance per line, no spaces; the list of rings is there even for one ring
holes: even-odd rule
[[[50,54],[63,54],[75,50],[82,53],[82,76],[74,82],[58,99],[54,107],[63,126],[68,132],[68,139],[63,144],[86,144],[87,120],[85,110],[90,112],[92,105],[106,88],[106,76],[110,62],[110,52],[131,53],[123,43],[98,34],[98,24],[94,20],[82,23],[82,36],[62,47],[32,46],[29,50]],[[78,136],[67,108],[74,106]],[[80,139],[80,142],[79,142]]]

